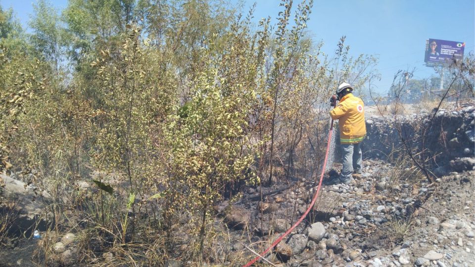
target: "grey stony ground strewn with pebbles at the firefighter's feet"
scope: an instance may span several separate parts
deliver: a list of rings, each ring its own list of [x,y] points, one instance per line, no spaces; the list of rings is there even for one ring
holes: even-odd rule
[[[474,266],[474,171],[452,172],[435,184],[391,180],[394,171],[368,160],[355,183],[324,185],[312,216],[267,259],[284,266]],[[227,222],[254,220],[253,243],[275,240],[305,211],[309,187],[268,195],[263,204],[244,200],[228,212]],[[253,204],[257,214],[242,217]]]

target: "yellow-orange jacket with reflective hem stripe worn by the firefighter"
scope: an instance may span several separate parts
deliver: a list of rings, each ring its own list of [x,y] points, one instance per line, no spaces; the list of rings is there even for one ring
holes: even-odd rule
[[[366,136],[365,104],[352,93],[341,98],[338,105],[330,111],[333,120],[338,120],[340,143],[354,144]]]

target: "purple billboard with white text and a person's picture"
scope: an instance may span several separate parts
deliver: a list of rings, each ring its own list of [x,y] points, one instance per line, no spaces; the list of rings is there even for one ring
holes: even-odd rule
[[[464,42],[428,39],[426,40],[424,62],[427,63],[428,67],[461,62],[464,58],[464,48]]]

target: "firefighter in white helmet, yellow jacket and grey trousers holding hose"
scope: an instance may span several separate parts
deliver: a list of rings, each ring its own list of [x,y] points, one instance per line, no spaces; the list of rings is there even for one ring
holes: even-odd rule
[[[332,106],[336,106],[330,111],[340,130],[343,166],[338,181],[347,184],[353,181],[352,174],[361,174],[361,142],[366,136],[365,104],[352,91],[353,87],[347,83],[339,85],[331,99]]]

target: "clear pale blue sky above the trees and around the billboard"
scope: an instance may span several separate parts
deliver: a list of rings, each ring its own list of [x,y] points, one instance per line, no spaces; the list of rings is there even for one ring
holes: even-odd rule
[[[36,0],[0,0],[3,8],[13,7],[26,26]],[[67,0],[51,0],[58,9]],[[237,0],[233,0],[237,2]],[[243,12],[257,2],[254,19],[277,17],[279,0],[244,1]],[[294,1],[294,5],[299,3]],[[295,8],[294,8],[295,9]],[[381,81],[375,86],[387,91],[398,70],[415,68],[414,79],[436,75],[424,65],[426,39],[465,42],[465,54],[474,51],[474,0],[315,0],[308,23],[315,41],[323,41],[323,51],[332,54],[341,36],[346,36],[353,56],[379,57]]]

